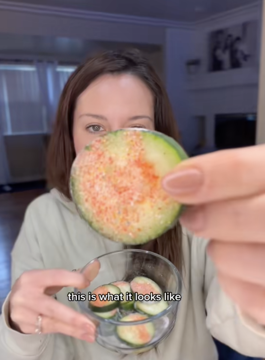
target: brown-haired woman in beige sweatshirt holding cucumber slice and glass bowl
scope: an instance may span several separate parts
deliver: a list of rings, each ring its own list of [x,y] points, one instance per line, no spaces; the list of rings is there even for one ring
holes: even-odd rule
[[[82,64],[61,95],[48,158],[53,190],[30,204],[12,251],[1,359],[120,359],[95,342],[94,325],[67,298],[98,271],[73,269],[122,248],[80,218],[69,174],[87,143],[125,127],[179,140],[154,70],[137,52],[107,52]],[[142,359],[217,359],[212,336],[245,355],[265,357],[264,155],[262,146],[208,154],[164,178],[164,189],[191,210],[182,216],[182,228],[178,223],[147,247],[182,271],[184,286],[171,335]],[[208,245],[204,238],[216,240]]]

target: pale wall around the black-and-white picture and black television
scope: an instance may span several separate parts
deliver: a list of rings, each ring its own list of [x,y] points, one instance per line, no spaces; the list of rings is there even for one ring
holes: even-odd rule
[[[209,33],[252,20],[258,23],[257,58],[254,66],[209,73]],[[198,22],[190,30],[166,30],[167,90],[187,152],[191,152],[200,140],[197,117],[206,117],[206,147],[211,148],[214,145],[215,114],[257,112],[261,20],[261,4],[252,4]],[[186,60],[197,58],[202,60],[200,72],[196,75],[187,75]],[[259,120],[258,131],[265,129],[265,125],[262,127],[263,122],[265,123],[265,118]]]

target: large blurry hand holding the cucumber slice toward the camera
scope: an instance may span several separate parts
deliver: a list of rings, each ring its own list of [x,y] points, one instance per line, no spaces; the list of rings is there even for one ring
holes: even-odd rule
[[[224,291],[265,325],[265,145],[190,158],[163,187],[190,206],[181,224],[212,239],[208,253]]]

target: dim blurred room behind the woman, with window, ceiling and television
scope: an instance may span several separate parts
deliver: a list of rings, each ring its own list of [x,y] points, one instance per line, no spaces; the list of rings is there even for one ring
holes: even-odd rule
[[[0,306],[26,207],[49,189],[45,154],[76,66],[138,48],[190,156],[255,145],[261,31],[261,0],[0,0]]]

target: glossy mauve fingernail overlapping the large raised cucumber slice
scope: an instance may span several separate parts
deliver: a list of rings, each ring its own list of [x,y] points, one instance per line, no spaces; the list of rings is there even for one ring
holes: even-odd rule
[[[198,190],[203,183],[203,174],[197,169],[180,170],[164,177],[163,187],[172,195]]]

